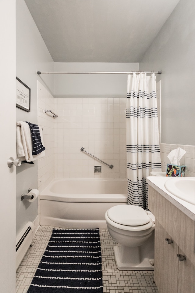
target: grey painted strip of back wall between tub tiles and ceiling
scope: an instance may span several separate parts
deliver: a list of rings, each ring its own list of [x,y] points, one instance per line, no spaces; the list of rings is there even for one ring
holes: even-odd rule
[[[54,69],[62,71],[133,71],[139,63],[61,63]],[[54,97],[126,97],[126,74],[55,74]]]

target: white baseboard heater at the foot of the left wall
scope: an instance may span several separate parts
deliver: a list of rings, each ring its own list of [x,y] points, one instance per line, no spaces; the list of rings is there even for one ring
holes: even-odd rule
[[[33,222],[27,222],[22,231],[16,237],[16,270],[22,262],[30,245],[32,245],[34,230]]]

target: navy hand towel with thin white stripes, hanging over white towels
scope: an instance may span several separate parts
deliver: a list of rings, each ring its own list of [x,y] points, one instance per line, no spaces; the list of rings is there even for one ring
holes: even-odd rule
[[[32,155],[40,154],[42,151],[45,150],[45,147],[41,143],[41,136],[39,132],[39,126],[30,122],[25,121],[28,123],[30,127],[30,133],[32,137],[32,143],[33,143],[33,150]]]

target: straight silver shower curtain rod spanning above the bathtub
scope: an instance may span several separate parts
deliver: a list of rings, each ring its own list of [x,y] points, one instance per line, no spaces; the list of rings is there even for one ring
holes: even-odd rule
[[[67,72],[42,72],[42,71],[37,71],[37,74],[133,74],[133,73],[157,73],[161,74],[161,71],[127,71],[127,72],[106,72],[106,71],[67,71]]]

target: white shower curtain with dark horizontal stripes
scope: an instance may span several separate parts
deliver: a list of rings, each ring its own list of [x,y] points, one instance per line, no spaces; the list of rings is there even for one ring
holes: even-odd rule
[[[148,209],[151,171],[161,171],[156,76],[128,75],[126,100],[128,204]]]

